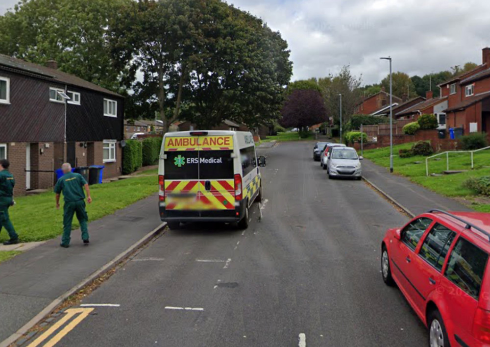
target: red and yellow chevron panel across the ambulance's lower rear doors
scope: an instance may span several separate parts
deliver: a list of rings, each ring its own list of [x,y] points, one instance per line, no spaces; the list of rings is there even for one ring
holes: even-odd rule
[[[189,193],[189,197],[172,197],[172,194]],[[170,196],[169,196],[170,195]],[[211,190],[205,181],[165,181],[167,210],[233,210],[235,188],[232,179],[211,180]]]

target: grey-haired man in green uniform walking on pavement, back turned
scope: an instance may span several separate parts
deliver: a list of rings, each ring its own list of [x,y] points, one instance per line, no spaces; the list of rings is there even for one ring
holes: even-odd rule
[[[88,216],[85,211],[85,193],[87,191],[87,201],[92,202],[90,197],[90,189],[87,181],[79,173],[72,173],[72,166],[65,163],[61,166],[63,176],[58,179],[54,186],[56,193],[56,208],[60,208],[60,194],[63,192],[65,205],[63,206],[63,236],[61,238],[61,247],[70,247],[70,235],[72,233],[73,215],[76,214],[76,219],[80,222],[82,230],[82,240],[85,245],[89,243],[89,233],[87,229]]]

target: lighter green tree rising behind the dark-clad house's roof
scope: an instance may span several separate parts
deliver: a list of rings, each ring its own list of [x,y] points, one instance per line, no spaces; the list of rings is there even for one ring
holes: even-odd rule
[[[0,53],[60,70],[111,90],[121,71],[107,42],[109,22],[131,0],[22,0],[0,16]]]

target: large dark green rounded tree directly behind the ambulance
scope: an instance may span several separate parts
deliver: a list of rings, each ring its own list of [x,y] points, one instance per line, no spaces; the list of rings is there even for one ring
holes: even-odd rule
[[[157,109],[165,130],[177,119],[256,126],[280,116],[289,50],[256,17],[221,0],[140,0],[111,27],[134,104]]]

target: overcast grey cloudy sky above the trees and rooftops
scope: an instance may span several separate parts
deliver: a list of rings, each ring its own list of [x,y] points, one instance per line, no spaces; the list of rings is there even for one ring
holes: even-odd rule
[[[0,14],[17,0],[0,0]],[[294,79],[336,74],[350,65],[363,83],[393,71],[409,75],[481,64],[490,46],[488,0],[228,0],[282,33]]]

